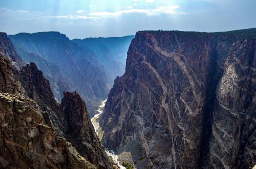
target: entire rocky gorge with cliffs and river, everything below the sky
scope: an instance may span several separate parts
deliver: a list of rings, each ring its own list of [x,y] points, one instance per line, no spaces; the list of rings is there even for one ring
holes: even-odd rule
[[[0,33],[0,167],[252,168],[255,42],[256,29]]]

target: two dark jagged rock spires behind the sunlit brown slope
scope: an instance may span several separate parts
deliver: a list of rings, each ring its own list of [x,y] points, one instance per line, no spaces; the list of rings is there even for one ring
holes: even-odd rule
[[[112,167],[94,131],[86,104],[78,93],[65,92],[61,105],[58,105],[49,81],[34,63],[23,67],[20,79],[28,96],[45,110],[42,115],[49,126],[54,126],[58,134],[67,138],[91,163],[105,168]]]

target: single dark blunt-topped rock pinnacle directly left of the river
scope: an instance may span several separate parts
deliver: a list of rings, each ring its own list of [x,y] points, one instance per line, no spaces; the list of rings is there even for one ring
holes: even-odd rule
[[[61,107],[67,122],[65,134],[69,142],[91,163],[112,168],[108,155],[94,131],[86,105],[78,93],[65,92]]]

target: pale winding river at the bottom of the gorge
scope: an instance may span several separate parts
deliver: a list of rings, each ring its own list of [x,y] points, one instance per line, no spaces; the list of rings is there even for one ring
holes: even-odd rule
[[[105,106],[106,100],[102,101],[101,104],[98,106],[97,111],[99,112],[98,114],[94,115],[94,117],[91,119],[93,127],[95,129],[96,134],[98,135],[98,129],[99,129],[99,123],[96,121],[99,117],[100,114],[102,114],[103,112],[103,108]],[[108,154],[109,156],[112,157],[113,161],[115,163],[117,163],[117,165],[121,168],[121,169],[126,169],[124,166],[120,165],[119,161],[118,161],[118,157],[115,154],[115,152],[113,150],[107,150],[105,149],[106,154]]]

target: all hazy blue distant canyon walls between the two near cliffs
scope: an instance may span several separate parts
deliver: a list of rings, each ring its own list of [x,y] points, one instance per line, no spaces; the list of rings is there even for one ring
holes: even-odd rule
[[[24,62],[34,62],[51,83],[58,102],[77,91],[91,117],[124,73],[126,51],[134,36],[70,40],[59,32],[8,35]]]

